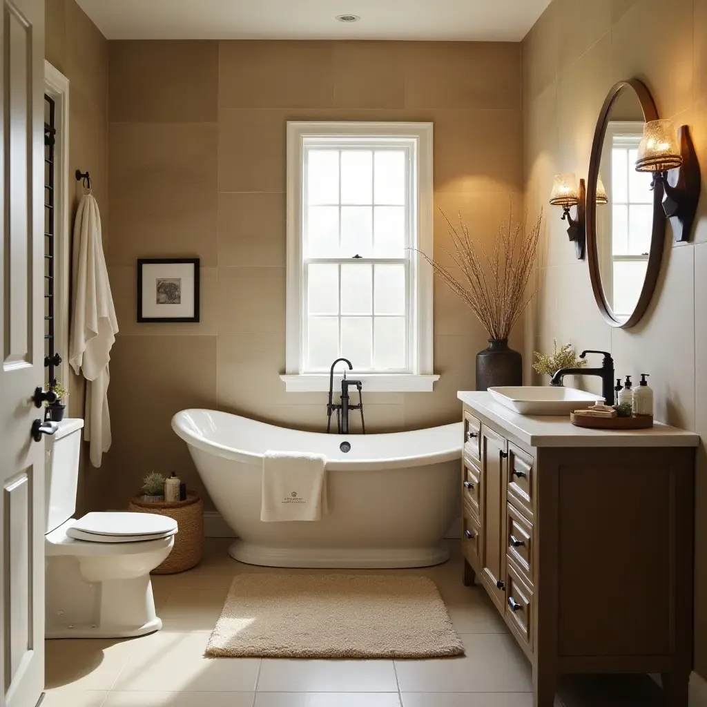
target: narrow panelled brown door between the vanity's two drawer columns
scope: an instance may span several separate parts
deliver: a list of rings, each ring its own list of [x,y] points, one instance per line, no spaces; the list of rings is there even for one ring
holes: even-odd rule
[[[481,457],[484,483],[481,484],[481,576],[491,598],[505,610],[506,594],[506,440],[486,426],[481,428]]]

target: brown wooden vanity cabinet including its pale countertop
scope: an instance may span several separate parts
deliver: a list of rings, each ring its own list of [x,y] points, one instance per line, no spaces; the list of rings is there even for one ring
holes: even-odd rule
[[[464,402],[464,581],[480,583],[532,663],[534,705],[560,674],[662,674],[686,707],[694,455],[665,425],[585,430]]]

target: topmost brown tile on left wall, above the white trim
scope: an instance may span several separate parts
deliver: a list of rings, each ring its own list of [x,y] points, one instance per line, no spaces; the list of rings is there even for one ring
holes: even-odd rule
[[[74,0],[66,0],[66,76],[102,109],[108,100],[108,42]]]

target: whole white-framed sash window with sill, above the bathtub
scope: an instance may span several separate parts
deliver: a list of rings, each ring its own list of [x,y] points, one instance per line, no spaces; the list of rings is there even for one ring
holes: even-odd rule
[[[367,390],[432,390],[431,165],[428,123],[288,123],[287,390],[341,356]]]

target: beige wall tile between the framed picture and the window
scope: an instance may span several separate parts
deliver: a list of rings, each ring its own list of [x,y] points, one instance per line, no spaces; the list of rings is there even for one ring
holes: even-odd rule
[[[282,333],[284,330],[284,268],[218,269],[219,334]]]

